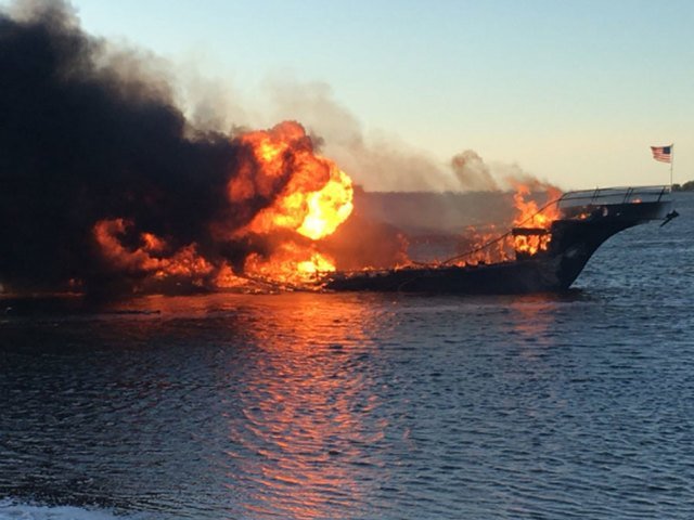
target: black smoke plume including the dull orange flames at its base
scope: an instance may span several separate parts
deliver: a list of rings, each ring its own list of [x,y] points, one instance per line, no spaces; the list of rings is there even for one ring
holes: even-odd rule
[[[259,136],[291,141],[264,176],[248,141],[187,121],[156,61],[85,34],[62,2],[0,13],[0,77],[4,287],[205,285],[268,253],[240,230],[296,184],[291,166],[312,148],[300,126]]]

